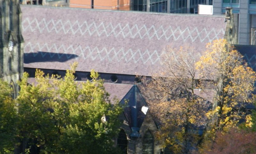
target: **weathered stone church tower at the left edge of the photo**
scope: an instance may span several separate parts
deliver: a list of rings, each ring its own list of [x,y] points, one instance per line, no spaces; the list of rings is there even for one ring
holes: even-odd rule
[[[0,0],[0,78],[18,94],[17,82],[23,75],[22,11],[19,0]]]

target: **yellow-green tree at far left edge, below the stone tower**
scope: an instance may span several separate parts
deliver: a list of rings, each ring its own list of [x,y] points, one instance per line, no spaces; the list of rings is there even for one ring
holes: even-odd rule
[[[12,89],[0,79],[0,153],[13,153],[16,146],[17,110]]]

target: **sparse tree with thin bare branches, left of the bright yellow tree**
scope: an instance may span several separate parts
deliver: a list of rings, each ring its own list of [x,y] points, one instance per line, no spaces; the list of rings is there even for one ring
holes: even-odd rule
[[[196,131],[205,120],[209,104],[196,95],[200,84],[192,49],[168,47],[161,61],[162,71],[140,85],[152,115],[160,121],[159,139],[174,153],[190,153],[198,143]]]

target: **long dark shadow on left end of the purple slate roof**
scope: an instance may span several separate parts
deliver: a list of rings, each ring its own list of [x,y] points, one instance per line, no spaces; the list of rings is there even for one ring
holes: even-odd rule
[[[71,59],[77,58],[75,54],[62,54],[62,53],[48,53],[48,52],[36,52],[25,53],[24,63],[38,63],[38,62],[66,62]]]

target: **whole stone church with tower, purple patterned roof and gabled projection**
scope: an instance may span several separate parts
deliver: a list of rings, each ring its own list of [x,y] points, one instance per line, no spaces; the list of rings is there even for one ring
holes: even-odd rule
[[[152,133],[159,124],[147,114],[136,75],[157,73],[168,46],[189,46],[194,52],[187,54],[199,58],[212,40],[225,38],[237,44],[231,9],[227,15],[194,15],[0,2],[0,76],[15,89],[14,96],[23,71],[29,72],[29,83],[33,83],[36,68],[63,76],[70,64],[78,62],[76,81],[86,82],[91,80],[90,70],[95,69],[111,98],[116,96],[120,103],[130,100],[120,115],[123,124],[116,138],[116,146],[125,153],[165,152]],[[247,61],[250,65],[255,57]]]

